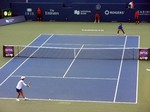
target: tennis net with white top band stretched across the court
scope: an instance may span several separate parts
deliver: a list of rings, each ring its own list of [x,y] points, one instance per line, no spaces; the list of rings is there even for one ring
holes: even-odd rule
[[[137,60],[138,48],[68,48],[11,45],[16,57],[54,59]]]

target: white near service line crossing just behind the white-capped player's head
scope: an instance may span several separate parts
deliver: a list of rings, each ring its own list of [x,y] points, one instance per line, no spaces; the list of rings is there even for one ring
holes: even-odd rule
[[[11,76],[13,78],[21,77],[20,75]],[[114,80],[116,81],[117,78],[93,78],[93,77],[57,77],[57,76],[25,76],[28,78],[41,78],[41,79],[78,79],[78,80]]]

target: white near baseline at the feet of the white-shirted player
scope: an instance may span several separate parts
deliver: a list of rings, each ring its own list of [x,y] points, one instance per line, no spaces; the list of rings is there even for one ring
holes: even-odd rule
[[[2,98],[0,98],[0,100],[16,100],[16,98],[2,97]],[[21,99],[21,100],[24,101],[24,99]],[[53,102],[58,102],[58,104],[60,102],[68,102],[68,103],[73,103],[73,102],[79,102],[79,103],[80,102],[83,102],[83,103],[108,103],[108,104],[131,104],[131,105],[137,104],[136,102],[113,102],[113,101],[94,101],[94,100],[62,100],[62,99],[51,99],[51,98],[47,98],[47,99],[29,98],[28,101],[53,101]]]

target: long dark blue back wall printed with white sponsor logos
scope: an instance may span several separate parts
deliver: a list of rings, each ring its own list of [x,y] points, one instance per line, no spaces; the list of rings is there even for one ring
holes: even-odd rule
[[[63,3],[12,3],[16,15],[24,15],[27,20],[37,20],[37,8],[41,8],[43,21],[94,21],[95,13],[101,15],[102,22],[133,22],[135,11],[139,11],[140,21],[150,22],[150,4],[137,4],[128,9],[125,3],[73,3],[64,7]]]

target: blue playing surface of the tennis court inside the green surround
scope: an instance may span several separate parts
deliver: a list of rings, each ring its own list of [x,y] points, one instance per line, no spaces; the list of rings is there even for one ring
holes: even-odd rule
[[[138,48],[139,36],[41,34],[28,46],[36,49],[23,49],[27,58],[14,57],[0,69],[0,99],[16,98],[24,75],[31,100],[137,103],[138,52],[128,48]]]

